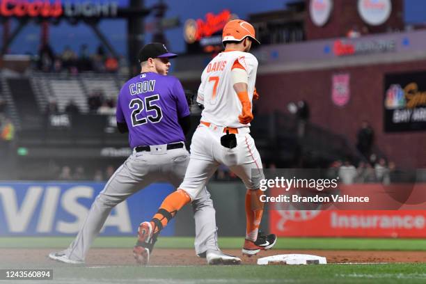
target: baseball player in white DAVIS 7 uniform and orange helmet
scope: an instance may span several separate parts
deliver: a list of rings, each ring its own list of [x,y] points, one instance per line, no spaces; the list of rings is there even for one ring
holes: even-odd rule
[[[246,191],[246,237],[242,253],[255,255],[276,243],[276,236],[259,231],[263,213],[260,180],[262,161],[250,135],[252,100],[257,97],[255,78],[258,61],[248,51],[255,38],[251,24],[235,19],[222,36],[225,51],[207,65],[201,76],[197,101],[204,109],[192,138],[191,158],[178,191],[166,197],[151,221],[139,226],[139,242],[155,238],[176,212],[203,190],[219,164],[225,164],[244,182]],[[259,43],[259,42],[258,42]]]

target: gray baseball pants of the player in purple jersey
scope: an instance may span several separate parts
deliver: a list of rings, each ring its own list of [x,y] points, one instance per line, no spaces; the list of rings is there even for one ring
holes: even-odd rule
[[[184,149],[166,150],[166,145],[150,146],[150,152],[134,152],[111,176],[95,198],[77,237],[64,251],[71,260],[85,260],[93,240],[104,226],[113,207],[152,182],[170,182],[178,187],[189,163]],[[192,203],[196,224],[195,249],[200,255],[207,249],[218,250],[216,212],[207,189]]]

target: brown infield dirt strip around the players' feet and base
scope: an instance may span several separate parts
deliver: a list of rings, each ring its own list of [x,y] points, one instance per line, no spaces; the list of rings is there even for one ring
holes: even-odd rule
[[[47,255],[57,249],[49,248],[0,248],[1,262],[8,265],[34,264],[36,267],[52,265]],[[379,262],[426,262],[424,251],[322,251],[322,250],[270,250],[251,258],[243,257],[240,250],[223,250],[242,258],[242,264],[255,265],[258,258],[286,253],[303,253],[324,256],[329,263],[379,263]],[[93,248],[86,259],[86,266],[136,265],[132,248]],[[155,249],[150,265],[206,265],[192,249]]]

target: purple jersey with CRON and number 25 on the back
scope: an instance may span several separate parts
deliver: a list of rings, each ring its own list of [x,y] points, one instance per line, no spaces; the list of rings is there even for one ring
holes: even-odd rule
[[[127,81],[117,101],[117,122],[127,123],[131,148],[184,141],[178,118],[189,116],[180,81],[146,72]]]

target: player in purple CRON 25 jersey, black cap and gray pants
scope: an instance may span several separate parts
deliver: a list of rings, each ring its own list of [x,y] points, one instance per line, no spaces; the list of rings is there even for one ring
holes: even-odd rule
[[[152,182],[166,181],[178,187],[184,178],[189,152],[184,134],[189,131],[189,107],[180,81],[166,76],[177,56],[161,43],[145,45],[139,52],[141,74],[127,81],[117,102],[117,127],[129,132],[133,154],[111,176],[96,197],[77,237],[65,249],[49,258],[70,264],[84,263],[88,249],[100,232],[112,208]],[[207,189],[193,203],[196,222],[196,253],[208,264],[239,264],[217,246],[216,219]],[[136,261],[146,265],[155,239],[134,247]]]

